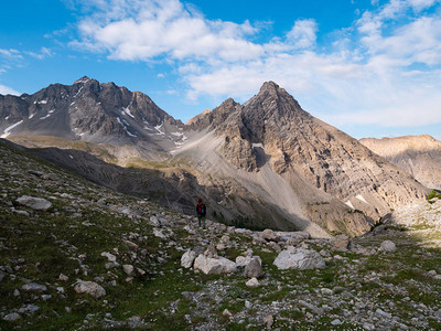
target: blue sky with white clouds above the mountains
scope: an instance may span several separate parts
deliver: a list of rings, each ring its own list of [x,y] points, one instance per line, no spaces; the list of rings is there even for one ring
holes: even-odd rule
[[[87,75],[183,121],[275,81],[355,138],[441,139],[440,0],[15,0],[0,94]]]

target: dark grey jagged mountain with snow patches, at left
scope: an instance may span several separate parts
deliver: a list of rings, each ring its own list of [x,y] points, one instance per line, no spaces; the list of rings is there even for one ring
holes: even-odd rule
[[[184,139],[183,124],[146,94],[88,77],[72,86],[53,84],[33,95],[0,96],[0,118],[2,138],[39,135],[95,143],[147,142],[158,150]]]

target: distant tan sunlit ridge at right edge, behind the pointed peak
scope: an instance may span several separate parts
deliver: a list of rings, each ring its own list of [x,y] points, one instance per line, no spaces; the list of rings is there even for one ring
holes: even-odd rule
[[[359,142],[413,175],[424,186],[441,190],[441,142],[433,137],[364,138]]]

